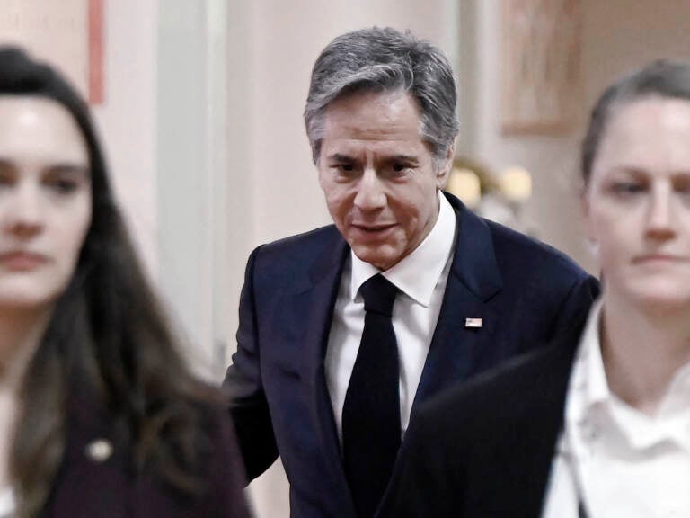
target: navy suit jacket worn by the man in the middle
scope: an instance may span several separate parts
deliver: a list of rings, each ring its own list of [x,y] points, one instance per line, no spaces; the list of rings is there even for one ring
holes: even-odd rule
[[[412,407],[582,318],[598,283],[554,250],[466,210]],[[280,455],[293,517],[347,518],[354,505],[326,387],[324,355],[349,246],[334,226],[252,252],[240,300],[237,353],[225,385],[245,467],[257,477]],[[482,318],[467,328],[465,318]]]

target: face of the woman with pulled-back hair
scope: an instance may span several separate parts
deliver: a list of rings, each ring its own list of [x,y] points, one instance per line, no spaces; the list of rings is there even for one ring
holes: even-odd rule
[[[690,306],[690,102],[614,108],[584,212],[608,293],[652,309]]]

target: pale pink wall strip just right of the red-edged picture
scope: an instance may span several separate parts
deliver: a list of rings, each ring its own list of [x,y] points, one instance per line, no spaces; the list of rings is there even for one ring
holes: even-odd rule
[[[148,271],[158,272],[155,174],[157,0],[104,0],[105,101],[93,109]]]

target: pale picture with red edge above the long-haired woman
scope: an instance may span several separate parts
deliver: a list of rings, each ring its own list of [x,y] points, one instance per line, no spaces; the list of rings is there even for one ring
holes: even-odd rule
[[[104,1],[2,0],[0,44],[48,60],[89,103],[102,103]]]

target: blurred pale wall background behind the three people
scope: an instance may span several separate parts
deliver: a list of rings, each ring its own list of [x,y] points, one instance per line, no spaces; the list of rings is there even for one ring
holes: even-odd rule
[[[459,83],[458,153],[495,172],[526,169],[531,198],[520,218],[537,237],[594,268],[577,197],[588,106],[631,67],[690,58],[690,2],[532,1],[537,8],[578,8],[579,50],[572,58],[580,94],[569,101],[575,108],[567,128],[517,133],[501,130],[502,45],[515,36],[501,24],[506,3],[515,4],[0,0],[0,40],[26,42],[39,54],[62,42],[85,67],[88,31],[80,21],[88,23],[89,8],[101,5],[103,100],[93,112],[119,198],[148,271],[189,336],[190,358],[220,380],[235,347],[247,255],[266,241],[330,222],[302,110],[314,59],[344,31],[390,25],[444,49]],[[49,17],[61,13],[82,29],[51,26]],[[555,40],[572,29],[556,26]],[[75,38],[84,38],[83,48],[72,49]],[[70,58],[62,59],[69,68]],[[250,491],[259,518],[288,516],[279,465]]]

